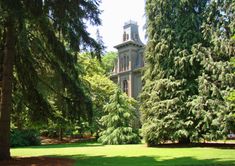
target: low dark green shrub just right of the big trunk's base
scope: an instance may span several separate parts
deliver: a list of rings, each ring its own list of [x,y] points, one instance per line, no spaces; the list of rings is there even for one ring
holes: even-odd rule
[[[40,145],[39,133],[36,130],[11,129],[11,147]]]

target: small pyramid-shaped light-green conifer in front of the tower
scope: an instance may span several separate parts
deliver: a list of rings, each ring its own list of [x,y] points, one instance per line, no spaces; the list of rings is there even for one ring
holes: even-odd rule
[[[134,99],[128,98],[120,89],[110,97],[104,106],[106,115],[101,118],[104,131],[100,133],[102,144],[139,143],[138,129],[134,128],[136,109]]]

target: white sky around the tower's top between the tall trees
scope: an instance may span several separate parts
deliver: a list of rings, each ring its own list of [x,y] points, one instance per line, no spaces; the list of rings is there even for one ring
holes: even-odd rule
[[[106,51],[117,51],[113,48],[122,41],[123,25],[129,20],[137,21],[139,25],[140,39],[146,43],[143,26],[145,0],[102,0],[100,9],[103,10],[100,18],[102,26],[98,29],[103,37]],[[97,27],[90,27],[88,31],[94,38]]]

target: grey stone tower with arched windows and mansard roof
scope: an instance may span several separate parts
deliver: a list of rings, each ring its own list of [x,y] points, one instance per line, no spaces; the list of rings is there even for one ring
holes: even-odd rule
[[[119,84],[128,96],[137,98],[142,88],[144,44],[140,40],[136,22],[128,21],[124,24],[122,39],[122,43],[115,46],[118,58],[111,79]]]

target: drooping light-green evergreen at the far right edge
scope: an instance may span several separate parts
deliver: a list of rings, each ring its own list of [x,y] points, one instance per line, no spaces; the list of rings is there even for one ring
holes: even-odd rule
[[[232,35],[235,18],[234,1],[211,1],[203,15],[202,34],[207,44],[197,44],[193,53],[201,64],[198,95],[188,103],[194,114],[192,140],[226,139],[232,128],[234,111],[227,100],[235,88],[231,57],[235,56]],[[195,123],[196,122],[196,123]]]

